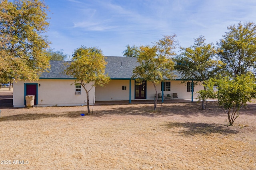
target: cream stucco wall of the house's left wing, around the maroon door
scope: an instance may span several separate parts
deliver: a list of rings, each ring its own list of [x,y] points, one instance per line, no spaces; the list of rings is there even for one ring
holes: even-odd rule
[[[24,107],[24,83],[25,82],[14,82],[13,90],[13,106]],[[39,79],[37,82],[38,86],[38,107],[42,106],[81,106],[86,105],[86,92],[81,86],[81,95],[75,94],[74,80],[69,79]],[[87,85],[88,87],[91,84]],[[95,87],[89,92],[89,104],[92,105],[95,92]]]

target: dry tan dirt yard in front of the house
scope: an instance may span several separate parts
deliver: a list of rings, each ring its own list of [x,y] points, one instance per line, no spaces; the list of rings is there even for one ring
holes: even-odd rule
[[[212,102],[160,106],[1,109],[0,169],[256,169],[255,103],[234,126]]]

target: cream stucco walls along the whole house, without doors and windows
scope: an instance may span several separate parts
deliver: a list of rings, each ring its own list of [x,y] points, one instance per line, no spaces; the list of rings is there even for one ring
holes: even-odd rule
[[[14,82],[13,90],[13,106],[25,107],[24,101],[24,84],[31,83]],[[81,88],[81,95],[75,94],[74,80],[68,79],[39,79],[38,85],[38,105],[42,106],[81,106],[86,105],[86,92]],[[88,86],[91,86],[89,84]],[[122,86],[126,86],[126,90],[122,90]],[[157,84],[158,93],[162,93],[161,84]],[[93,87],[89,93],[89,104],[92,105],[95,101],[116,101],[116,100],[129,100],[130,80],[111,80],[104,87]],[[196,99],[198,90],[202,90],[203,86],[198,84],[194,86],[193,99]],[[131,100],[134,99],[135,82],[131,80]],[[95,92],[95,99],[94,97]],[[155,89],[151,82],[147,82],[146,100],[154,100]],[[181,81],[171,81],[171,91],[164,91],[166,94],[178,93],[179,99],[191,100],[191,92],[187,92],[186,83],[181,84]]]

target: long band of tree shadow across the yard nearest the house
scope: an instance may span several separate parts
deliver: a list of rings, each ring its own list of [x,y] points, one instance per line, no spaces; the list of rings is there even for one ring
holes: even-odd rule
[[[111,115],[140,115],[146,117],[160,117],[160,116],[172,116],[180,115],[182,117],[196,117],[196,116],[206,116],[206,117],[216,117],[216,116],[226,116],[226,113],[220,108],[218,108],[214,103],[209,103],[207,110],[202,110],[201,105],[195,103],[184,103],[184,104],[158,104],[157,111],[153,111],[154,104],[133,104],[133,105],[119,105],[114,108],[106,108],[104,110],[95,109],[91,114],[86,116],[94,117],[106,117]],[[102,106],[101,106],[102,107]],[[161,111],[160,111],[161,109]],[[48,111],[49,113],[24,113],[17,115],[4,116],[0,118],[0,121],[18,121],[18,120],[34,120],[43,119],[48,117],[69,117],[78,118],[81,117],[81,113],[84,113],[83,107],[78,111],[70,111],[62,113],[52,113],[53,111]],[[253,114],[256,113],[256,104],[250,104],[244,109],[240,109],[240,114]]]

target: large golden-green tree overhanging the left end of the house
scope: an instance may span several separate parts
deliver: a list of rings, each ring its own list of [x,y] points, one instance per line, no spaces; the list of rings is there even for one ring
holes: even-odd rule
[[[15,80],[34,81],[50,67],[47,11],[40,0],[0,0],[0,74],[12,70]]]

